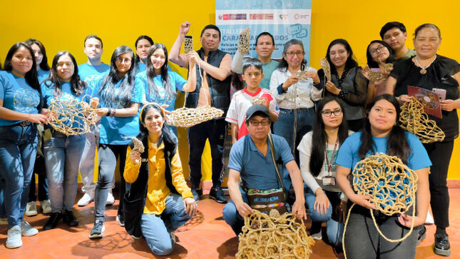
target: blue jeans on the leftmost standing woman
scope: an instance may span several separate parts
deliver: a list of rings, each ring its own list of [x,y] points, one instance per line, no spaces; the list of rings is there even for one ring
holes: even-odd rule
[[[0,181],[9,228],[24,220],[38,140],[36,125],[0,127]]]

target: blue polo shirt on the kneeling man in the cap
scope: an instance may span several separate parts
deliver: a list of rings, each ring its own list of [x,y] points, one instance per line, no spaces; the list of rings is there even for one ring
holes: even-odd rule
[[[275,159],[281,158],[283,168],[294,160],[285,138],[272,134],[275,147]],[[240,172],[240,177],[246,188],[258,190],[271,190],[281,188],[280,181],[273,165],[270,151],[270,140],[267,138],[267,154],[264,156],[255,146],[250,135],[240,138],[230,150],[228,168]],[[281,173],[281,172],[280,172]],[[283,181],[286,186],[286,181]]]

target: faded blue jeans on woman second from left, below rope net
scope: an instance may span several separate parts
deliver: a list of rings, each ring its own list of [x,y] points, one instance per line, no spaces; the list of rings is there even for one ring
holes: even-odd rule
[[[78,166],[84,146],[83,134],[66,136],[53,131],[52,137],[44,141],[46,178],[52,213],[73,208],[78,189]]]

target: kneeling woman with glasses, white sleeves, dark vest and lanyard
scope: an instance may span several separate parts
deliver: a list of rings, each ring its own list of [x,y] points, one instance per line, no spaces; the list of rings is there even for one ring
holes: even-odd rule
[[[308,215],[312,218],[310,235],[316,240],[322,239],[321,223],[327,222],[327,238],[336,253],[342,251],[344,224],[334,208],[343,205],[347,198],[335,181],[335,159],[340,146],[351,133],[342,101],[327,96],[318,104],[313,130],[305,134],[297,147],[300,171],[308,186],[305,201]]]

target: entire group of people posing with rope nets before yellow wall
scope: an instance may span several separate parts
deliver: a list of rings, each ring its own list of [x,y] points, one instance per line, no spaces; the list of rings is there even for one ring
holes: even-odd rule
[[[174,231],[193,216],[203,195],[201,156],[207,140],[212,157],[210,198],[228,202],[221,183],[230,123],[230,202],[223,209],[223,218],[236,234],[241,233],[243,217],[252,210],[286,208],[299,218],[310,215],[310,235],[316,239],[322,238],[321,224],[327,222],[327,240],[336,253],[342,253],[341,211],[355,203],[344,238],[349,258],[414,258],[431,203],[436,225],[434,253],[450,255],[446,176],[459,134],[460,65],[436,54],[441,44],[438,27],[419,26],[414,49],[407,49],[404,24],[385,24],[381,40],[367,47],[364,68],[348,42],[335,39],[325,55],[330,78],[323,68],[308,66],[302,41],[297,39],[285,43],[282,59],[276,61],[272,59],[275,40],[262,32],[255,41],[257,59],[238,51],[232,59],[218,49],[220,30],[210,24],[201,31],[201,48],[180,54],[189,30],[190,23],[180,25],[169,55],[163,44],[140,36],[136,54],[128,46],[119,46],[110,65],[101,61],[103,43],[96,35],[86,37],[88,61],[80,66],[72,54],[61,51],[49,68],[43,44],[34,39],[11,47],[4,71],[0,71],[0,131],[4,132],[0,134],[0,201],[4,201],[0,216],[8,220],[7,248],[21,246],[21,236],[38,233],[24,220],[24,213],[36,214],[35,197],[29,198],[29,192],[35,194],[29,191],[33,173],[41,176],[39,200],[44,213],[51,213],[44,225],[49,230],[61,219],[70,226],[78,225],[73,204],[79,169],[84,195],[78,205],[94,200],[89,238],[102,238],[104,210],[106,204],[113,204],[111,189],[119,159],[117,221],[134,238],[144,237],[153,253],[168,255],[175,244]],[[188,68],[188,79],[172,71],[168,61]],[[379,71],[377,79],[370,76],[371,71]],[[231,86],[238,90],[232,96]],[[399,126],[399,106],[409,101],[407,86],[446,90],[441,101],[443,116],[432,118],[446,134],[444,141],[422,145]],[[222,117],[187,130],[190,187],[178,156],[177,130],[168,126],[177,91],[186,93],[186,108],[212,106],[224,111]],[[48,114],[50,103],[70,98],[97,109],[101,119],[86,134],[66,136],[49,125],[53,123]],[[145,151],[127,137],[138,138]],[[96,147],[99,170],[95,184]],[[415,218],[409,213],[378,216],[377,223],[389,238],[405,235],[414,220],[419,231],[401,243],[379,237],[369,223],[372,218],[367,209],[374,208],[370,197],[357,195],[350,186],[354,165],[374,153],[398,156],[419,176]],[[36,163],[40,156],[42,164]],[[285,193],[285,200],[257,205],[251,198],[254,193],[276,190]],[[273,197],[280,198],[278,194]]]

